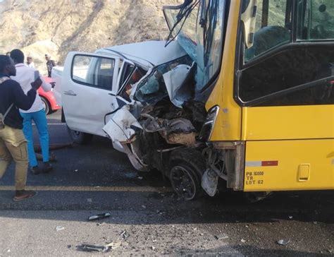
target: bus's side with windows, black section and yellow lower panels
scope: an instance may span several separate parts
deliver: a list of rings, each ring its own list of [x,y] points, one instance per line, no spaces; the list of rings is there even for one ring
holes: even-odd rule
[[[235,97],[245,191],[334,189],[334,2],[258,4]]]

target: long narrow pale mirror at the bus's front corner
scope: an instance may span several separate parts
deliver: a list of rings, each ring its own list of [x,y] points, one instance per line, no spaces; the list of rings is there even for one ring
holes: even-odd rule
[[[246,2],[247,5],[242,7],[241,20],[245,28],[245,45],[249,49],[254,42],[257,0],[247,0]]]

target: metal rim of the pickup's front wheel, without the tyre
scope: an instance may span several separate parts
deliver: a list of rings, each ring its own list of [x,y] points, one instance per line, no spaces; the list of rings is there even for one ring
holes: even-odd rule
[[[178,196],[185,200],[192,200],[196,195],[196,182],[191,172],[185,167],[175,166],[171,169],[171,184]]]

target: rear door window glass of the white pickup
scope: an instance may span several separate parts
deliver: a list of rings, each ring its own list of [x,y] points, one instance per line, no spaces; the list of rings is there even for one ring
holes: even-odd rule
[[[73,59],[72,79],[79,84],[111,90],[115,60],[76,55]]]

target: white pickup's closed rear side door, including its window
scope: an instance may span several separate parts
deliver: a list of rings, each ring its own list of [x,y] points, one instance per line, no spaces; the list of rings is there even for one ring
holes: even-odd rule
[[[103,54],[70,52],[62,81],[66,124],[74,131],[106,136],[105,115],[118,107],[120,59]]]

